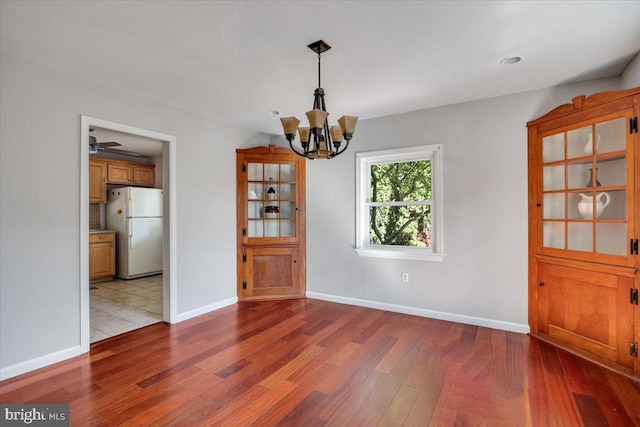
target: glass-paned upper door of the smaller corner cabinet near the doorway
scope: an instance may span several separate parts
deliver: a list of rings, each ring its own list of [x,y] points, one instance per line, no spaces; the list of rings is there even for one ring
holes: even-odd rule
[[[247,164],[249,238],[296,237],[296,165]]]

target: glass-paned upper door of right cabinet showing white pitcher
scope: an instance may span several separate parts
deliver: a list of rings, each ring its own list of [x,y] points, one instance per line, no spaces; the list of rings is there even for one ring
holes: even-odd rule
[[[623,116],[542,138],[543,252],[627,255],[627,123]]]

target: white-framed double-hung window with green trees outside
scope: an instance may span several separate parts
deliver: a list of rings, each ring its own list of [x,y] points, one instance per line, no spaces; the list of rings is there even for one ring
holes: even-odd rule
[[[441,261],[442,145],[356,153],[356,252]]]

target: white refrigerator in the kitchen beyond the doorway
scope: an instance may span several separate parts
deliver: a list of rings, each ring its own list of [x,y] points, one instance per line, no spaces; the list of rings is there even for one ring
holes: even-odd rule
[[[162,273],[162,190],[121,187],[107,192],[107,228],[116,232],[116,277]]]

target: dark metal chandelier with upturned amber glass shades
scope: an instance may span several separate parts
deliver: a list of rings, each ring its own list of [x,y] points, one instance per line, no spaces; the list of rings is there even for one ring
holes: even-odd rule
[[[309,127],[298,127],[300,120],[295,117],[282,117],[280,121],[284,128],[284,135],[294,153],[307,159],[331,159],[344,153],[349,146],[358,118],[355,116],[342,116],[338,119],[338,125],[329,127],[329,122],[327,121],[329,113],[324,104],[324,89],[320,85],[320,54],[331,49],[331,46],[322,40],[318,40],[308,47],[318,54],[318,88],[313,93],[313,110],[307,111]],[[300,135],[302,151],[293,146],[296,130]],[[313,141],[311,141],[312,137]],[[346,143],[340,149],[343,139]]]

